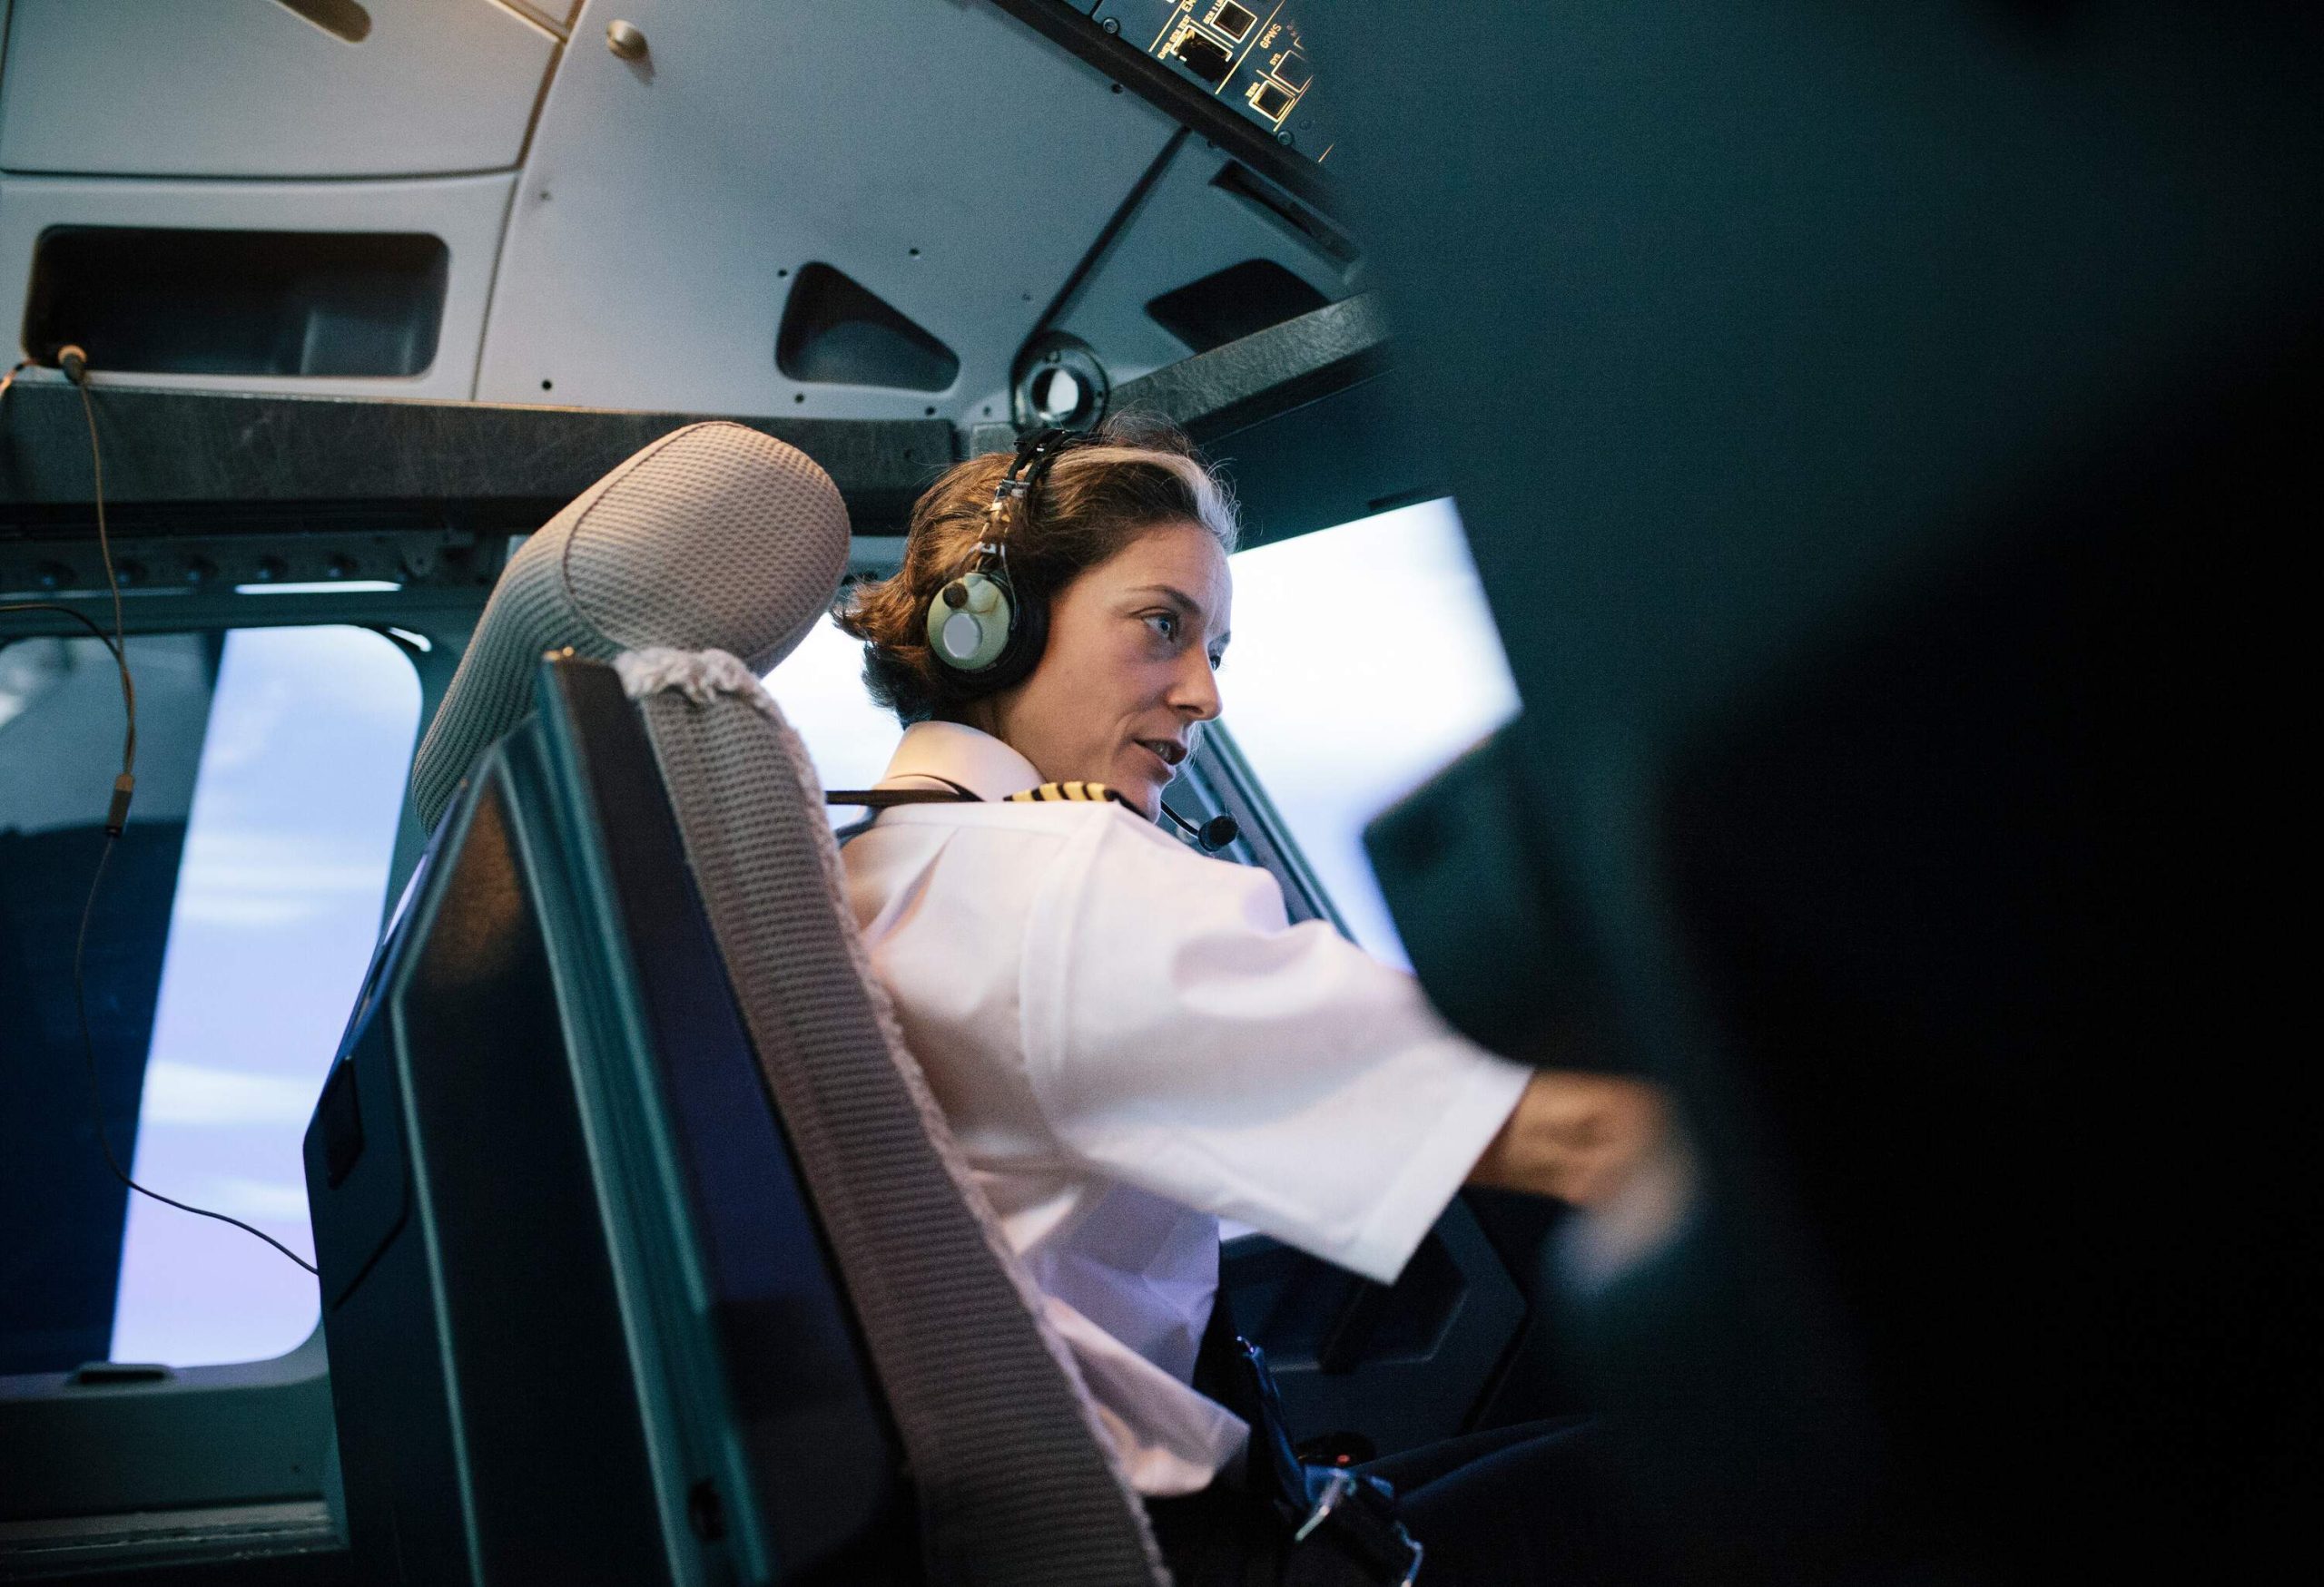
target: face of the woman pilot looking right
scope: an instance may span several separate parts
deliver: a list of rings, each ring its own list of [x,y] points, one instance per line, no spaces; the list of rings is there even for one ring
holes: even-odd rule
[[[976,725],[1048,783],[1116,788],[1146,816],[1218,716],[1234,583],[1199,523],[1162,523],[1074,579],[1048,609],[1032,676],[995,695]]]

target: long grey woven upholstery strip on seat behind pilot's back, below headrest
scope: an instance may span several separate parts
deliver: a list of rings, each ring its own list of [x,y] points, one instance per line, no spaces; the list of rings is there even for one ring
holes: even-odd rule
[[[762,692],[662,688],[639,706],[904,1438],[930,1580],[1167,1582],[1071,1357],[871,978],[797,734]]]

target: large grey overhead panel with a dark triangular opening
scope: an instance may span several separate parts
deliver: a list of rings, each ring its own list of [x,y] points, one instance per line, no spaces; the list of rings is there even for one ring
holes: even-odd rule
[[[486,400],[999,418],[1013,356],[1174,130],[988,5],[627,0],[621,21],[634,53],[586,14],[541,109]]]

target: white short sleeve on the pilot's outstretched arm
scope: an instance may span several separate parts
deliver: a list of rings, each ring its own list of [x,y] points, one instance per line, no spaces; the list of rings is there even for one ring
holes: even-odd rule
[[[1408,974],[1290,925],[1267,871],[1127,811],[1046,878],[1020,1013],[1064,1150],[1380,1283],[1532,1076],[1446,1027]]]

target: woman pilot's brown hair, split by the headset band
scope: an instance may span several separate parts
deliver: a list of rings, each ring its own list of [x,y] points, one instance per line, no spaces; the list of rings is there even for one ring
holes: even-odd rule
[[[927,606],[976,567],[992,490],[1013,453],[955,462],[911,509],[904,565],[892,579],[855,583],[832,618],[865,641],[865,688],[906,727],[948,716],[981,690],[944,669],[927,648]],[[1164,523],[1199,523],[1234,551],[1234,500],[1195,444],[1169,421],[1116,414],[1095,441],[1057,453],[1032,500],[1009,520],[1009,576],[1020,599],[1055,599],[1076,576]]]

